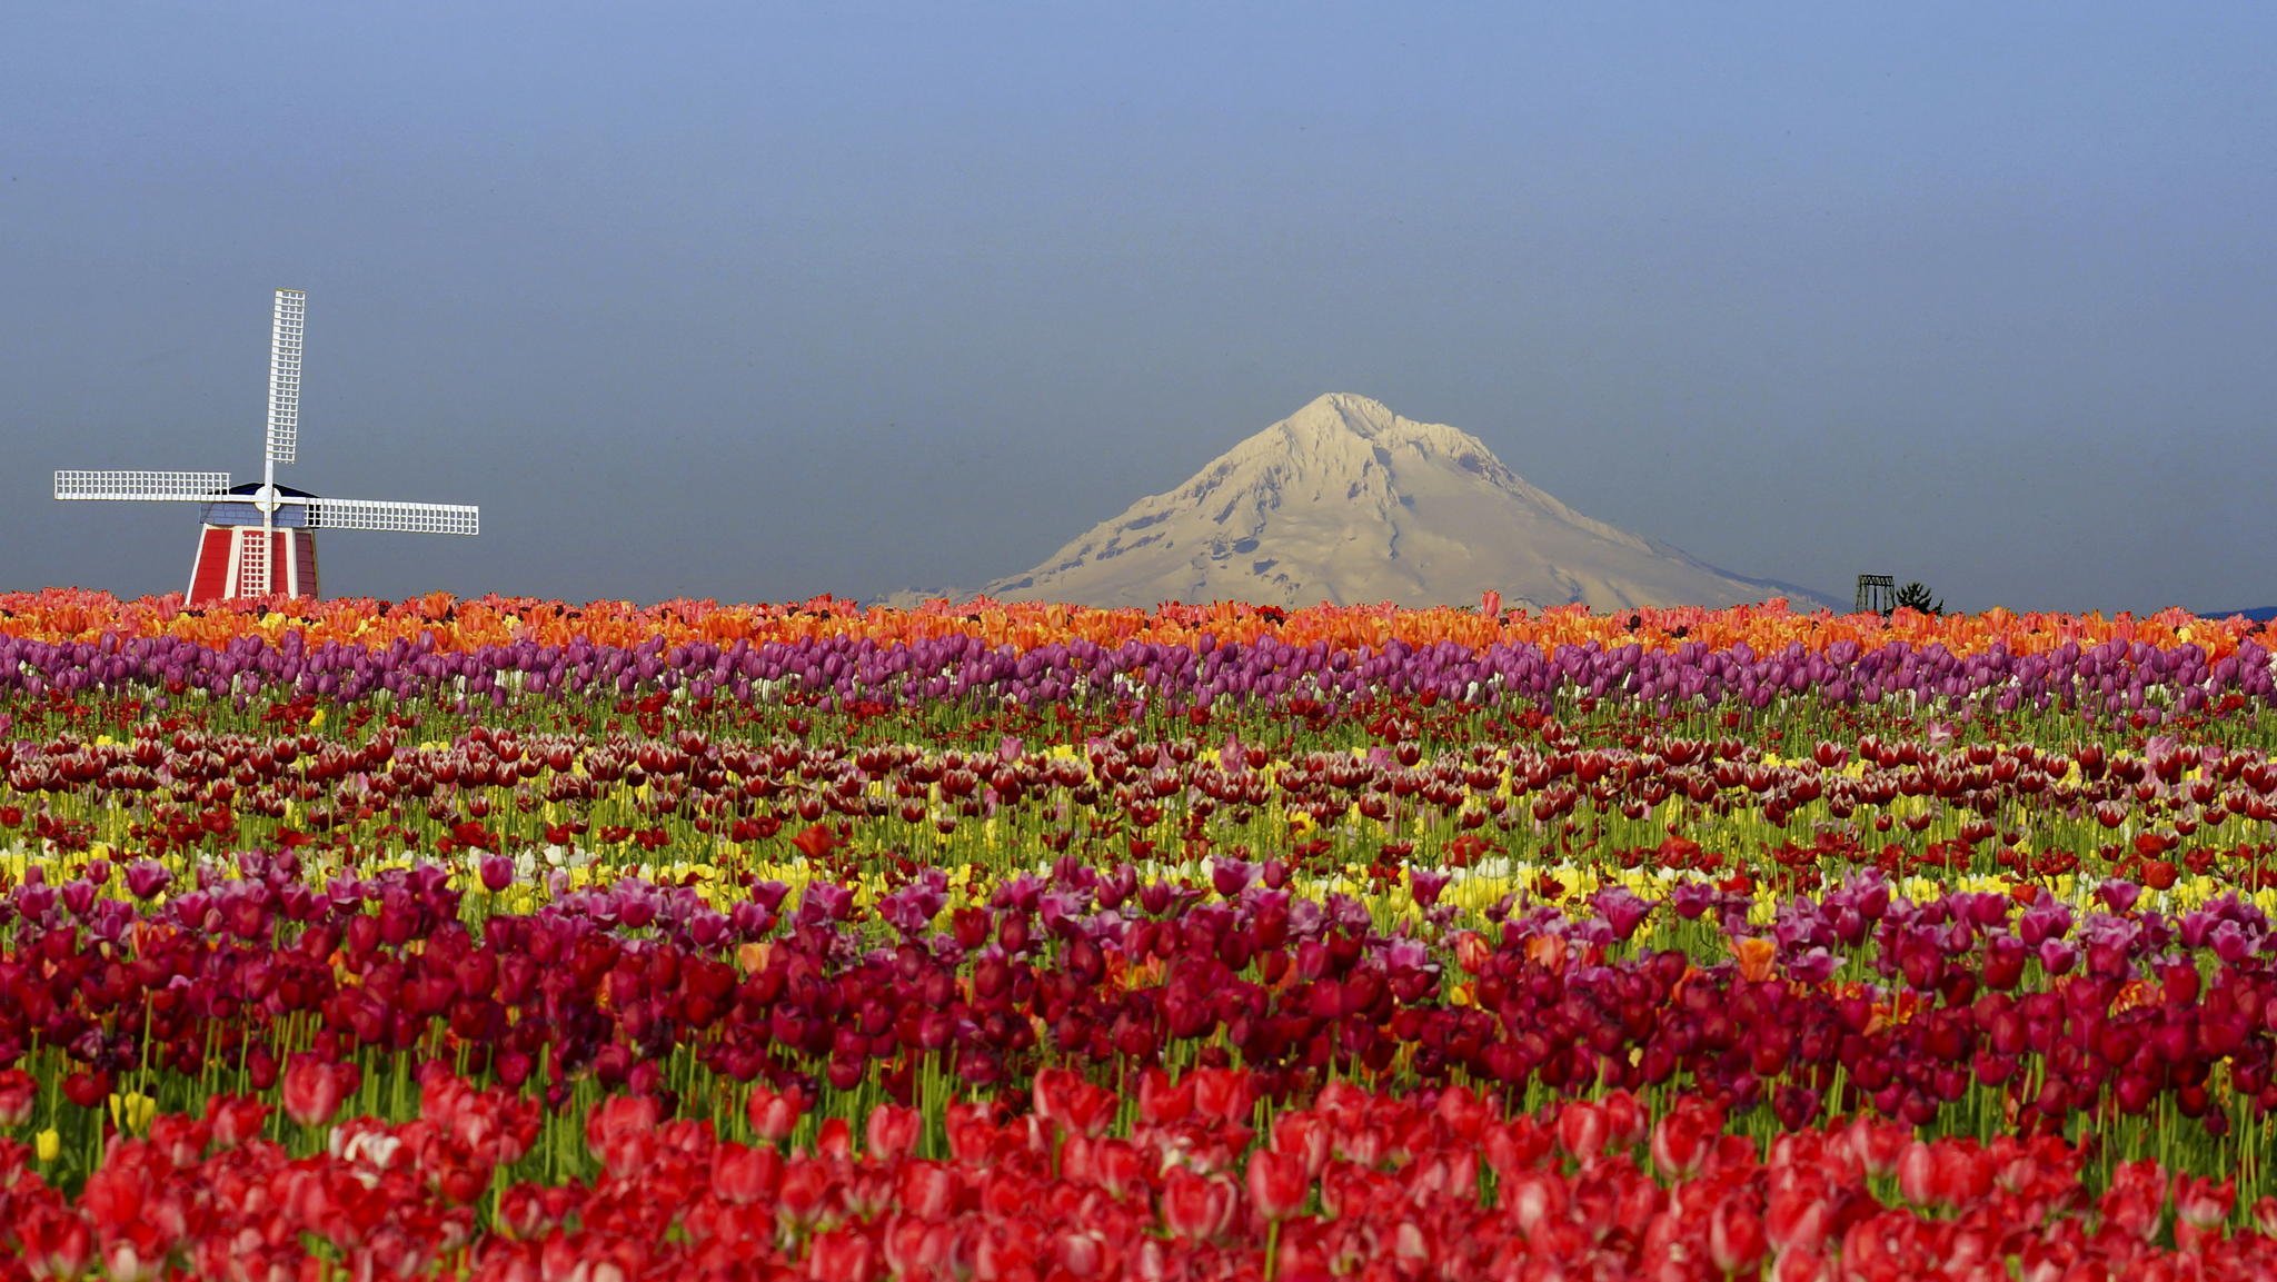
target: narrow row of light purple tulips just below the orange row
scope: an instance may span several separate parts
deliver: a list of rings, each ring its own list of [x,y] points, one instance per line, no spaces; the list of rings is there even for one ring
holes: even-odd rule
[[[1280,638],[1250,642],[1198,638],[1193,644],[1129,640],[1098,644],[1054,640],[1027,649],[990,644],[975,633],[945,633],[911,642],[863,635],[799,640],[733,640],[633,647],[587,640],[542,644],[519,640],[449,649],[433,638],[387,647],[305,642],[289,631],[278,642],[237,638],[207,647],[182,638],[105,635],[50,642],[0,635],[0,695],[39,697],[48,690],[159,690],[209,697],[262,692],[355,701],[458,699],[505,706],[517,697],[590,699],[597,695],[685,692],[690,699],[770,701],[783,695],[849,704],[1057,704],[1082,699],[1138,699],[1168,706],[1209,706],[1218,699],[1255,701],[1289,710],[1343,706],[1364,697],[1448,701],[1519,701],[1553,706],[1560,697],[1639,699],[1649,704],[1721,704],[1767,708],[1783,697],[1810,695],[1826,704],[1883,699],[1981,701],[1990,710],[2074,708],[2163,717],[2168,708],[2197,713],[2227,699],[2277,701],[2272,654],[2241,640],[2229,654],[2179,642],[2106,640],[2063,642],[2045,651],[1954,654],[1942,644],[1890,640],[1863,647],[1838,640],[1806,647],[1799,640],[1772,651],[1746,642],[1710,649],[1535,642],[1462,644],[1441,640],[1414,647],[1291,644]]]

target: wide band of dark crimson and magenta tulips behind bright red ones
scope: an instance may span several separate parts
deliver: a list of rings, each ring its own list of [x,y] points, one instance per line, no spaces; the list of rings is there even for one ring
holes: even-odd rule
[[[2081,913],[2045,888],[1915,902],[1856,874],[1756,927],[1751,897],[1680,881],[1482,934],[1423,870],[1403,913],[1293,893],[1277,863],[1195,886],[1072,858],[979,893],[929,870],[870,906],[829,879],[729,911],[619,879],[512,913],[510,870],[478,865],[462,895],[439,865],[312,881],[291,854],[244,856],[162,897],[139,863],[128,890],[162,897],[143,906],[107,868],[32,872],[0,899],[0,1061],[52,1086],[23,1125],[91,1143],[123,1091],[198,1104],[303,1057],[378,1095],[403,1057],[449,1054],[549,1107],[751,1082],[913,1102],[927,1073],[1000,1093],[1236,1059],[1275,1100],[1339,1075],[1690,1088],[1765,1134],[1863,1109],[2102,1129],[2111,1159],[2243,1164],[2252,1191],[2277,1136],[2277,945],[2236,895],[2177,915],[2113,881]]]

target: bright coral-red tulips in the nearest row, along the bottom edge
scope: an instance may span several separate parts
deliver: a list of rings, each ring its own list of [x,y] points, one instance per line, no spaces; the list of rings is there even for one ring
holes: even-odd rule
[[[439,1063],[417,1116],[278,1143],[216,1095],[116,1136],[77,1198],[0,1141],[0,1277],[2145,1280],[2268,1277],[2277,1200],[2054,1139],[1920,1141],[1853,1120],[1767,1148],[1721,1107],[1612,1093],[1510,1116],[1466,1088],[1332,1084],[1259,1127],[1236,1070],[1129,1093],[1041,1075],[1018,1116],[754,1093],[749,1139],[653,1095],[592,1109],[590,1182],[521,1180],[531,1109]],[[303,1141],[328,1118],[303,1116]],[[572,1141],[576,1143],[576,1141]]]

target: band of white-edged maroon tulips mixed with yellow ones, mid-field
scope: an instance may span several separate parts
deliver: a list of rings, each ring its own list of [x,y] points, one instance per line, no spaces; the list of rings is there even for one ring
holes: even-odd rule
[[[1287,731],[1268,740],[1252,724],[1214,742],[1125,726],[1036,747],[1004,735],[977,751],[724,729],[471,726],[408,742],[394,726],[330,735],[307,720],[241,733],[175,717],[182,729],[0,742],[0,840],[162,861],[244,845],[517,852],[524,879],[537,852],[608,865],[656,863],[665,849],[740,868],[806,858],[888,881],[915,872],[909,849],[990,868],[1031,865],[1038,852],[1100,863],[1277,852],[1300,872],[1364,865],[1378,879],[1516,858],[1744,872],[1787,888],[1876,865],[2015,881],[2093,872],[2190,893],[2211,874],[2263,890],[2277,822],[2277,758],[2168,735],[2042,749],[1869,733],[1778,745],[1794,754],[1778,756],[1676,733],[1583,747],[1521,724],[1482,729],[1469,747],[1396,738],[1300,751]],[[863,854],[833,863],[836,847]]]

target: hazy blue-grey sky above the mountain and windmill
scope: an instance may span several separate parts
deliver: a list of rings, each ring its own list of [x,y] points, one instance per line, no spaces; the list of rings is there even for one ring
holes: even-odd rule
[[[2277,11],[107,5],[0,18],[0,585],[257,474],[335,594],[979,585],[1321,392],[1721,567],[2277,601]]]

